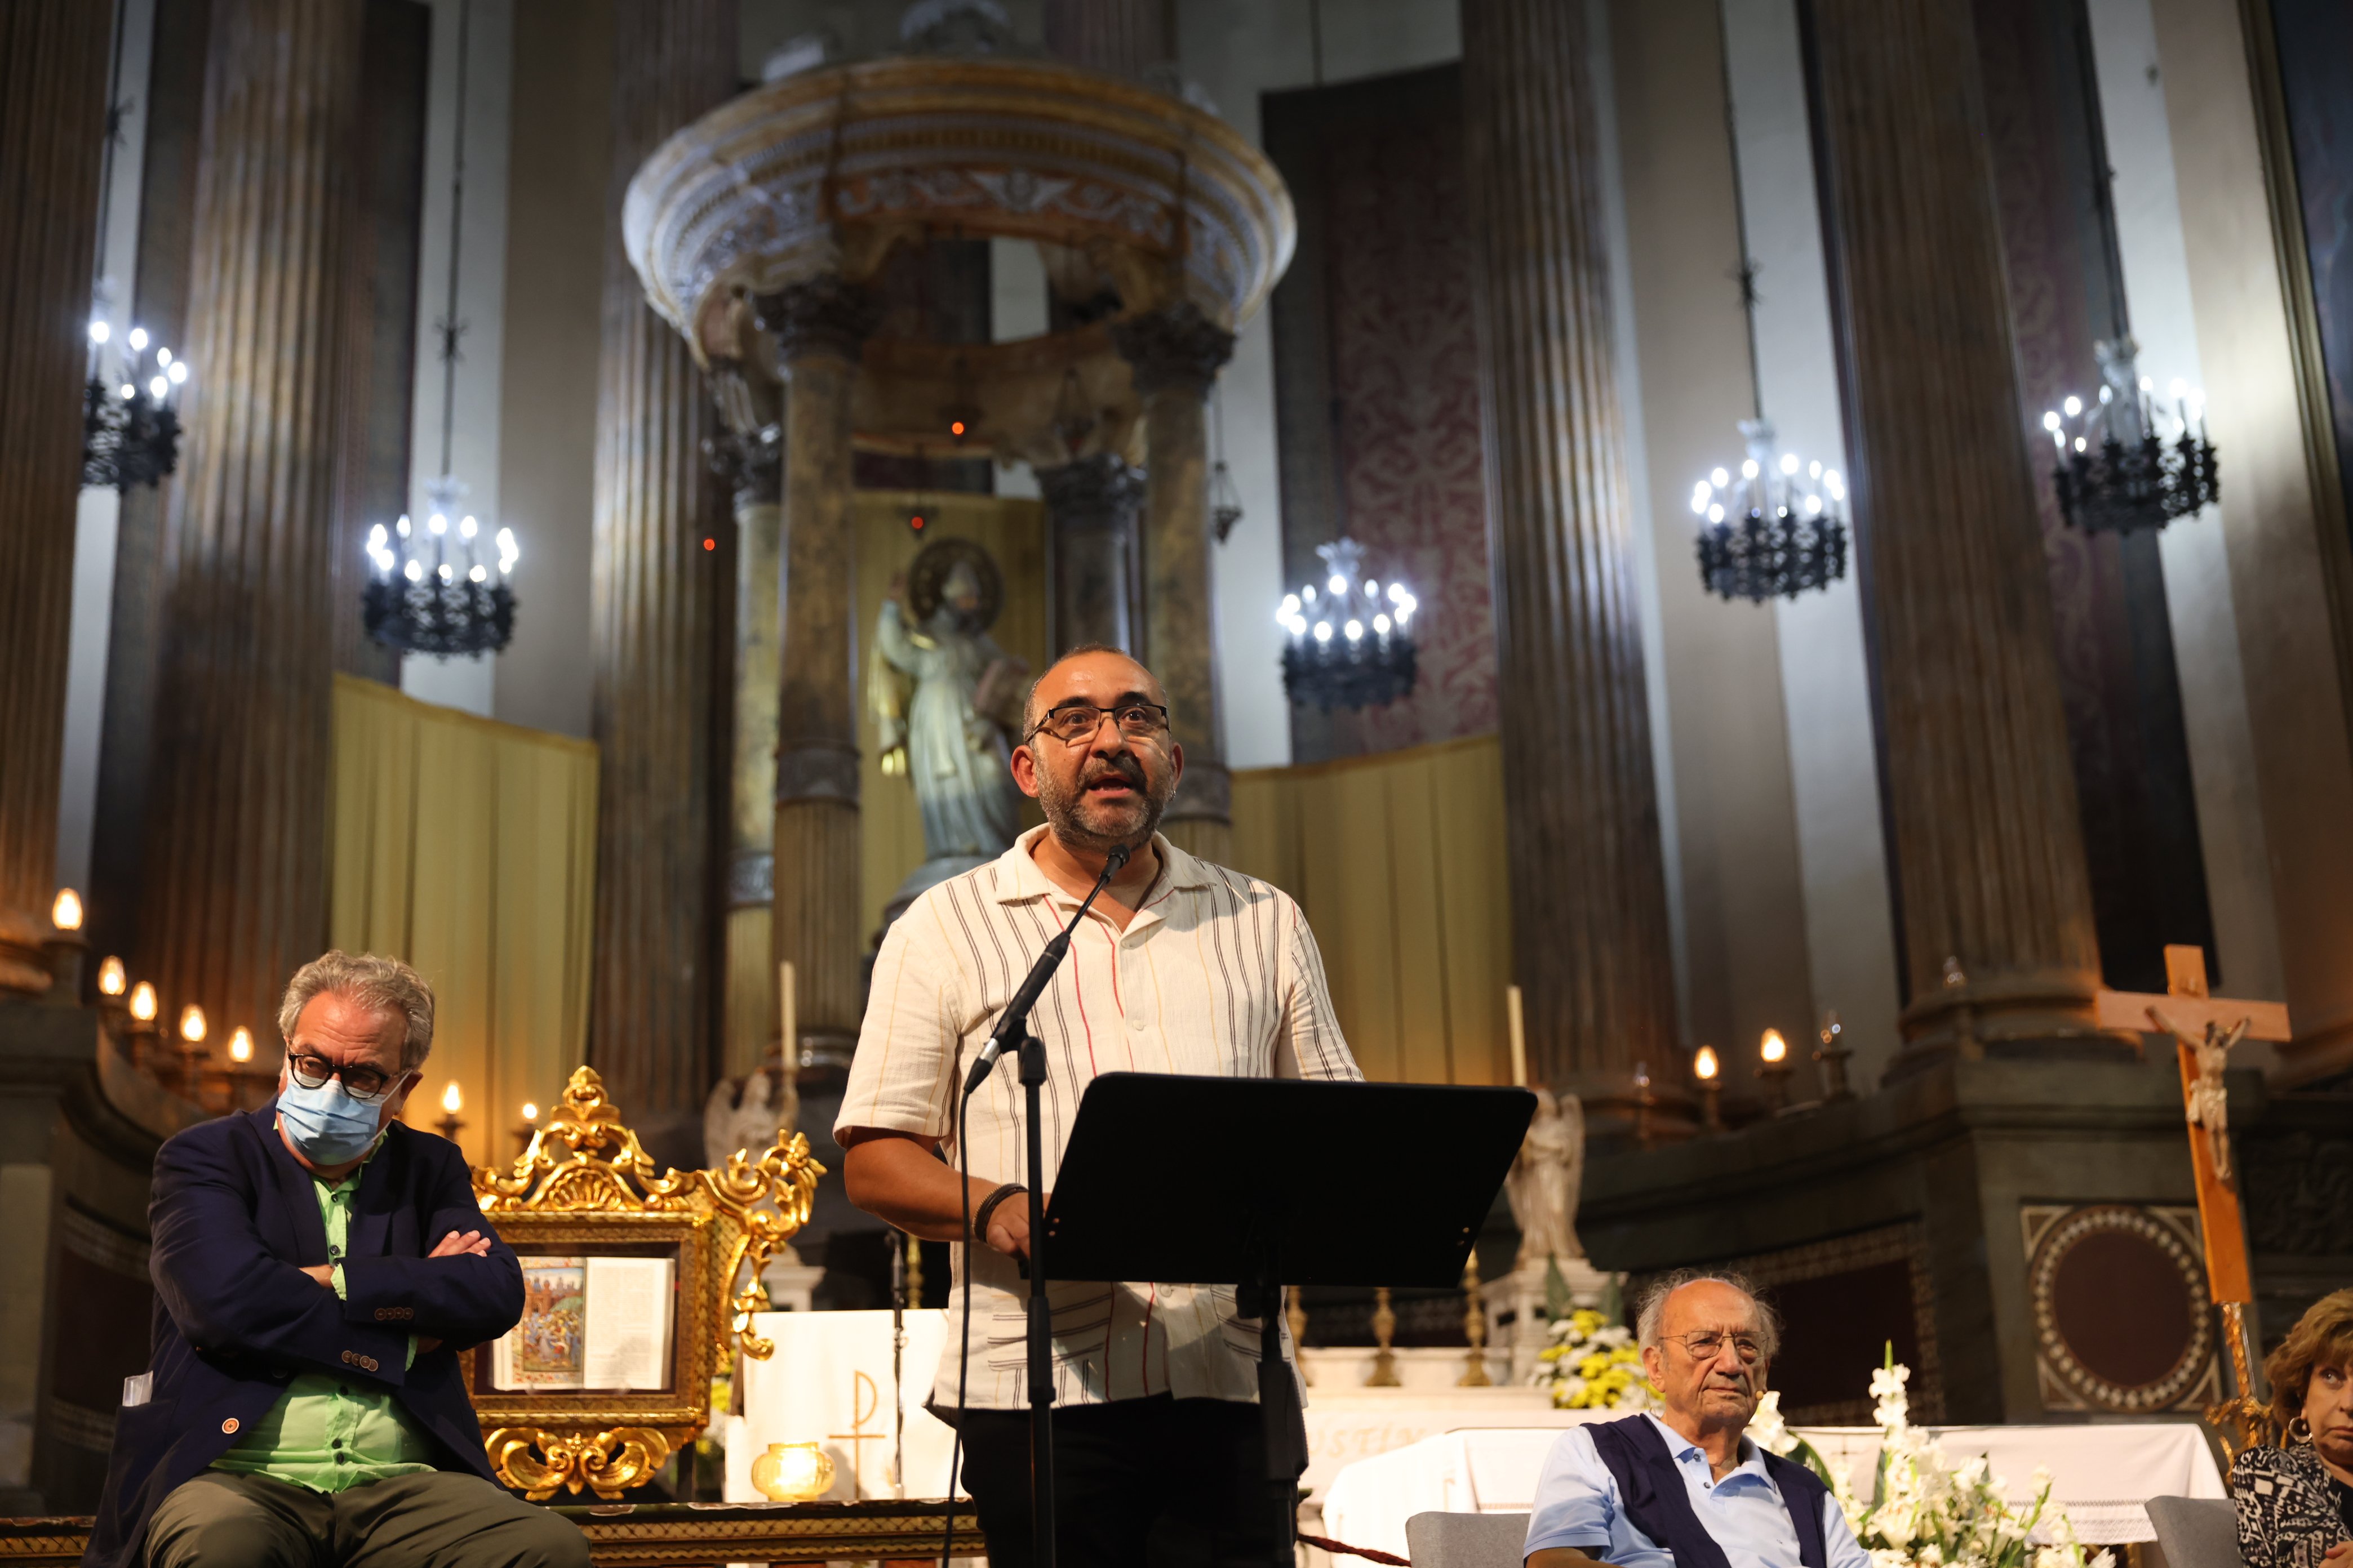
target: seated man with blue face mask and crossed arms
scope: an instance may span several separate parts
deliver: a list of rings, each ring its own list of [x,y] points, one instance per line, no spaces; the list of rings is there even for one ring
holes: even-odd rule
[[[85,1568],[588,1568],[567,1519],[492,1483],[459,1380],[522,1316],[522,1269],[459,1147],[398,1121],[433,990],[329,952],[278,1030],[278,1095],[155,1154],[153,1359]]]

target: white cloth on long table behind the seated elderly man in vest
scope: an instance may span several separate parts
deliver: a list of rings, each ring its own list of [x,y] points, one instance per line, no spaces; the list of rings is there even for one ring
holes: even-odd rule
[[[1612,1410],[1562,1410],[1612,1420]],[[1798,1427],[1849,1481],[1871,1486],[1875,1427]],[[2033,1502],[2038,1465],[2075,1533],[2097,1544],[2155,1540],[2151,1497],[2226,1497],[2221,1469],[2195,1422],[2099,1427],[1937,1427],[1953,1460],[1984,1453],[2014,1502]],[[1445,1432],[1341,1469],[1322,1497],[1322,1535],[1351,1547],[1405,1554],[1405,1521],[1424,1512],[1525,1514],[1555,1429]]]

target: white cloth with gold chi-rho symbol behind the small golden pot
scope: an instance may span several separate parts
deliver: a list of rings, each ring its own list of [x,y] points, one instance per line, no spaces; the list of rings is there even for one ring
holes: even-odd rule
[[[901,1495],[892,1476],[889,1312],[760,1312],[753,1333],[774,1340],[776,1352],[767,1361],[744,1359],[744,1415],[727,1422],[727,1502],[760,1500],[751,1462],[769,1443],[821,1443],[833,1458],[828,1500]],[[922,1408],[946,1342],[946,1312],[906,1314],[908,1497],[948,1490],[955,1432]]]

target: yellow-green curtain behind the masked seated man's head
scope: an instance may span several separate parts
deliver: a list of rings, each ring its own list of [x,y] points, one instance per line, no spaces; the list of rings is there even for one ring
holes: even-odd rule
[[[433,983],[405,1119],[438,1121],[456,1084],[475,1164],[515,1157],[522,1103],[555,1100],[588,1046],[595,792],[588,741],[334,677],[327,933]]]

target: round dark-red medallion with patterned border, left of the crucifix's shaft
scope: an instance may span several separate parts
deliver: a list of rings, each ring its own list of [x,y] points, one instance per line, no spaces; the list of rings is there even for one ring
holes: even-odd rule
[[[2214,1356],[2205,1262],[2146,1208],[2061,1215],[2026,1265],[2026,1293],[2045,1368],[2094,1410],[2174,1408]]]

